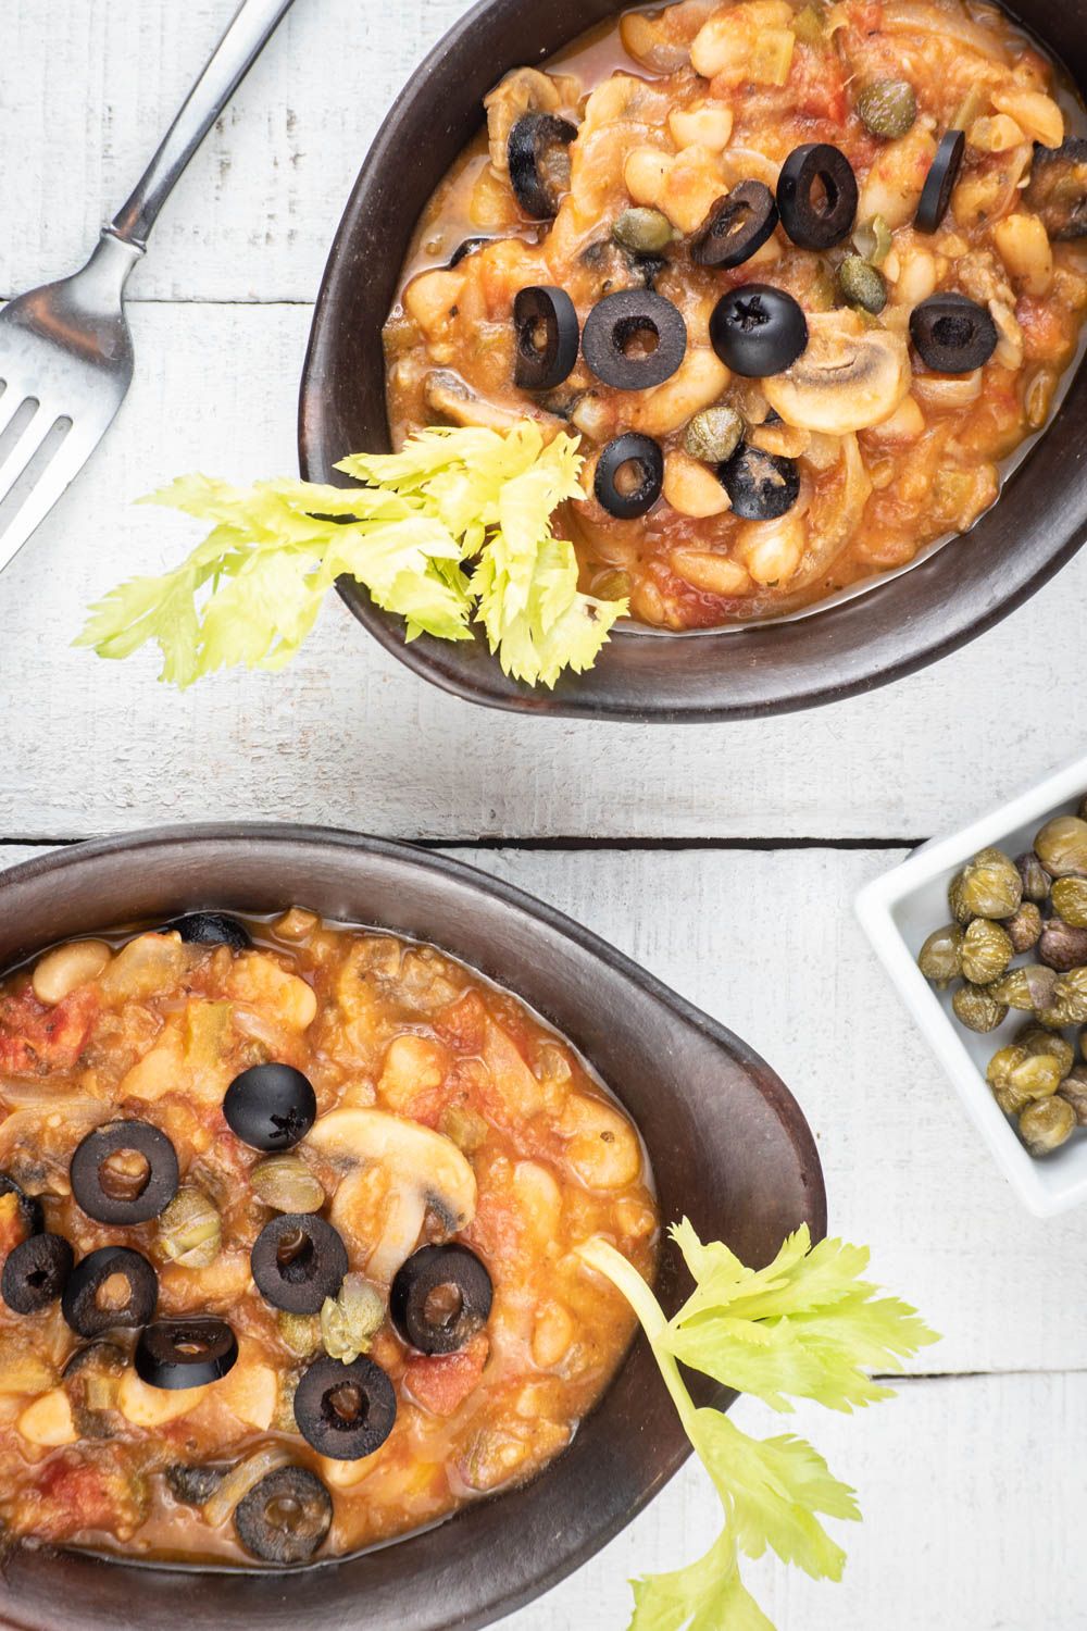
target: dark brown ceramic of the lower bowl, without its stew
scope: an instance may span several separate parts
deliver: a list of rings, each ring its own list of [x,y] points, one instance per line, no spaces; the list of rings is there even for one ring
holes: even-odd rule
[[[774,1072],[587,930],[507,884],[406,845],[306,827],[176,827],[51,853],[0,876],[0,969],[70,935],[196,907],[300,904],[433,941],[518,992],[601,1072],[640,1127],[667,1220],[764,1264],[826,1228],[808,1125]],[[663,1254],[658,1293],[684,1290]],[[707,1386],[701,1403],[727,1404]],[[533,1484],[411,1540],[310,1569],[165,1569],[16,1549],[0,1623],[26,1631],[469,1631],[548,1590],[686,1460],[639,1339],[572,1447]],[[681,1559],[676,1559],[676,1564]]]

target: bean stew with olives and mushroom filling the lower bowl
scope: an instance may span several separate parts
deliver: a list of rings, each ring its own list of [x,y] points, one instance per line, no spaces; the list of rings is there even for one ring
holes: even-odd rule
[[[0,983],[0,1522],[301,1566],[569,1443],[652,1279],[644,1147],[575,1049],[427,944],[292,908]]]

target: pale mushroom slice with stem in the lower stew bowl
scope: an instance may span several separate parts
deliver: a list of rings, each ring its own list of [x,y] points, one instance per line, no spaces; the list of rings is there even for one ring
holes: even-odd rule
[[[450,1235],[476,1215],[476,1174],[451,1138],[419,1122],[375,1109],[321,1116],[310,1145],[347,1163],[331,1222],[354,1246],[367,1275],[391,1282],[416,1248],[427,1209]]]

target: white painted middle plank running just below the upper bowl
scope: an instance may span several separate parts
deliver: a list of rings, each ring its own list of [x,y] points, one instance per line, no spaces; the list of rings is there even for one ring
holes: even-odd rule
[[[898,837],[948,830],[1082,742],[1056,652],[1082,649],[1087,553],[1010,623],[834,708],[733,726],[539,721],[445,696],[331,599],[292,669],[186,695],[148,654],[72,651],[85,607],[200,537],[130,499],[187,470],[292,471],[300,307],[140,305],[137,380],[88,471],[0,577],[0,833],[200,816],[406,837]],[[1014,661],[1012,661],[1014,659]],[[1071,670],[1069,670],[1071,672]]]

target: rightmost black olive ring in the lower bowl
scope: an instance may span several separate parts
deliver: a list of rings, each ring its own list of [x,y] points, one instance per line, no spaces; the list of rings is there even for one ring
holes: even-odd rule
[[[396,1271],[389,1318],[420,1354],[455,1354],[491,1316],[486,1264],[456,1243],[420,1246]]]

